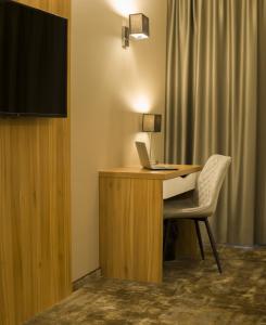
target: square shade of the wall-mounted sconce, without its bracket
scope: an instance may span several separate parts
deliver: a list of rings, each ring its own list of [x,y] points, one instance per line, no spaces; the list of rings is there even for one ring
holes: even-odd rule
[[[129,30],[130,36],[136,39],[149,38],[149,18],[141,13],[129,15]]]

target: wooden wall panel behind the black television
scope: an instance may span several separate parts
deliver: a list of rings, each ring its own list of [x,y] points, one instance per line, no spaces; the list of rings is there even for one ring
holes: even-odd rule
[[[18,2],[69,17],[71,0]],[[1,325],[71,292],[69,131],[69,118],[0,119]]]

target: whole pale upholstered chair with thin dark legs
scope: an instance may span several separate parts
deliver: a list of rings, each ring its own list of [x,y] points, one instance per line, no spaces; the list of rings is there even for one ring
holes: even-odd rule
[[[176,199],[166,200],[164,204],[166,237],[172,221],[176,221],[177,219],[193,220],[203,260],[204,250],[199,222],[203,221],[205,223],[213,253],[220,273],[221,265],[207,218],[214,214],[216,210],[220,187],[230,164],[231,157],[221,155],[211,156],[198,178],[192,199],[180,199],[177,197]]]

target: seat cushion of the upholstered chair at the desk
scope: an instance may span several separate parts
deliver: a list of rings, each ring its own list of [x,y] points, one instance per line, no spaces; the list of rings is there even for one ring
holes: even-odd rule
[[[205,218],[211,214],[210,206],[197,206],[192,198],[176,198],[164,202],[164,219]]]

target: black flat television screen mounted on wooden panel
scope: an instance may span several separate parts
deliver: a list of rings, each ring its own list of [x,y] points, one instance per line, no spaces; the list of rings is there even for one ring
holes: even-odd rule
[[[67,20],[0,0],[0,115],[67,116]]]

